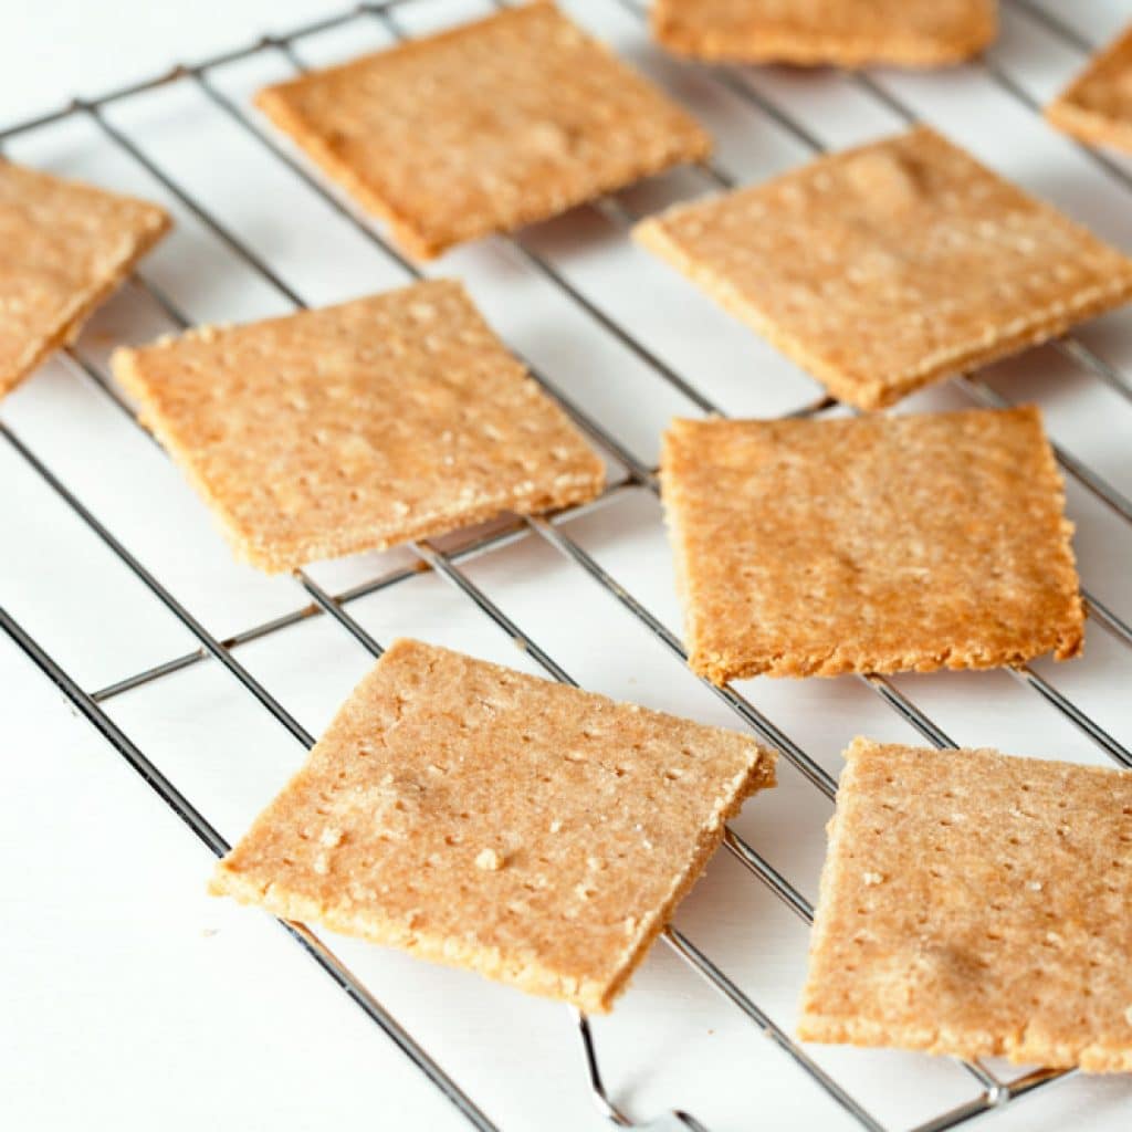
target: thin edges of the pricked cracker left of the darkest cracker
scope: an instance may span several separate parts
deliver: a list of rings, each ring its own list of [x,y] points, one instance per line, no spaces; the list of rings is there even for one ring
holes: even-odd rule
[[[431,282],[440,281],[434,280]],[[453,282],[460,286],[462,292],[464,292],[464,297],[468,299],[473,310],[475,310],[477,315],[482,319],[479,308],[475,306],[471,295],[468,294],[463,284],[458,280]],[[413,284],[409,285],[412,286]],[[405,289],[401,288],[395,290]],[[281,317],[286,318],[288,316],[284,315]],[[275,320],[276,319],[267,319],[267,321]],[[242,325],[254,326],[255,323]],[[488,325],[486,320],[484,325]],[[203,327],[199,326],[192,327],[186,333],[191,334],[194,331],[199,331],[201,328]],[[490,326],[488,326],[488,328],[490,331]],[[537,381],[534,381],[534,379],[530,376],[530,371],[526,369],[526,366],[516,359],[509,350],[507,350],[506,344],[498,338],[498,335],[496,335],[494,331],[491,331],[491,334],[497,341],[499,341],[501,349],[505,350],[508,355],[522,367],[524,375],[522,379],[524,381],[532,383],[538,388],[539,395],[549,402],[549,404],[561,414],[564,423],[576,435],[578,443],[590,453],[592,457],[590,475],[578,477],[574,482],[567,484],[558,484],[555,490],[535,490],[525,492],[522,496],[516,496],[514,494],[499,494],[497,496],[488,497],[481,496],[479,499],[470,503],[469,506],[461,508],[458,515],[449,511],[427,512],[419,516],[414,522],[405,523],[397,529],[395,533],[387,534],[385,538],[369,538],[365,534],[351,533],[349,537],[340,534],[337,538],[324,538],[321,541],[308,540],[307,544],[312,549],[303,551],[301,557],[285,551],[273,552],[269,548],[260,547],[257,541],[250,537],[250,532],[245,531],[245,529],[234,521],[224,504],[222,494],[214,490],[213,486],[197,472],[192,463],[189,447],[181,444],[178,437],[164,427],[163,421],[160,420],[153,411],[153,398],[149,395],[148,385],[137,369],[138,355],[152,350],[174,348],[183,335],[178,335],[168,342],[158,340],[155,343],[137,349],[120,346],[111,355],[110,363],[114,379],[138,403],[138,423],[153,434],[165,452],[168,452],[172,457],[177,466],[181,470],[181,473],[189,481],[194,490],[204,500],[205,505],[213,515],[214,522],[218,525],[235,557],[240,561],[248,563],[265,573],[280,574],[286,571],[298,569],[311,561],[340,558],[345,555],[360,554],[365,550],[389,550],[393,547],[402,546],[405,542],[417,539],[427,539],[434,535],[448,533],[449,531],[460,530],[465,526],[473,526],[477,523],[488,522],[489,520],[497,518],[499,515],[508,512],[516,515],[534,515],[547,511],[557,511],[561,507],[580,506],[581,504],[589,503],[591,499],[595,499],[599,495],[601,495],[606,484],[606,465],[602,462],[601,456],[598,455],[592,446],[585,440],[581,430],[573,423],[558,402],[555,401],[555,398],[551,397],[544,389],[542,389]]]

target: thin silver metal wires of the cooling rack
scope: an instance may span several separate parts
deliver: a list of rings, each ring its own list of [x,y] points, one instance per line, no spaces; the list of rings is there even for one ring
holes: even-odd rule
[[[243,264],[258,275],[280,297],[295,309],[306,306],[302,298],[282,278],[272,266],[258,256],[245,241],[230,231],[223,222],[198,200],[178,179],[171,174],[161,162],[149,154],[137,142],[118,129],[103,113],[111,104],[126,100],[142,97],[160,87],[178,83],[191,83],[206,96],[211,105],[231,122],[235,123],[246,135],[264,148],[275,161],[290,171],[302,185],[316,194],[325,204],[342,216],[357,235],[381,252],[392,264],[397,265],[410,278],[420,278],[422,273],[410,260],[404,258],[383,237],[380,230],[353,205],[343,199],[336,190],[328,187],[321,177],[308,166],[305,160],[292,152],[275,135],[241,105],[222,93],[212,82],[214,70],[238,60],[248,59],[261,53],[277,53],[295,70],[303,69],[303,63],[295,51],[295,45],[302,40],[326,32],[352,20],[370,19],[378,22],[394,38],[408,37],[398,11],[410,3],[423,3],[426,0],[383,0],[377,3],[362,3],[336,15],[309,23],[280,35],[268,35],[251,44],[237,48],[204,61],[182,65],[161,75],[106,92],[94,98],[77,98],[58,110],[41,114],[25,121],[16,122],[0,129],[0,145],[6,140],[33,132],[55,122],[71,118],[85,118],[100,131],[104,142],[128,156],[140,169],[148,173],[163,189],[183,206],[200,224],[216,237]],[[491,0],[496,7],[501,7],[501,0]],[[643,10],[634,0],[610,0],[619,5],[634,17],[643,19]],[[1013,7],[1028,19],[1039,22],[1047,31],[1072,48],[1091,50],[1089,44],[1071,26],[1057,17],[1049,16],[1032,0],[1010,0]],[[1038,109],[1035,100],[1026,89],[993,59],[986,58],[979,62],[989,77],[1007,94],[1029,109]],[[780,128],[814,153],[824,151],[822,142],[798,121],[779,103],[769,98],[740,68],[713,68],[705,74],[715,83],[726,86],[738,95],[749,108],[770,118]],[[898,121],[910,122],[914,112],[883,82],[861,72],[852,76],[852,80],[869,97],[886,108]],[[1082,147],[1083,148],[1083,147]],[[1084,149],[1090,160],[1118,180],[1125,187],[1132,188],[1132,178],[1115,162],[1094,151]],[[715,164],[704,163],[700,168],[706,183],[714,188],[730,188],[731,177]],[[625,229],[636,216],[625,201],[611,196],[584,206],[598,212],[610,224]],[[534,272],[551,283],[563,298],[575,306],[592,324],[594,331],[608,335],[620,348],[628,351],[641,361],[659,380],[677,391],[696,410],[704,413],[722,415],[719,405],[706,396],[694,383],[662,360],[646,342],[641,341],[632,331],[618,321],[601,306],[591,300],[582,290],[572,284],[544,256],[539,254],[522,235],[506,239],[523,261]],[[180,309],[177,300],[152,283],[143,273],[136,273],[129,284],[139,294],[147,295],[163,311],[173,328],[185,328],[189,325],[188,317]],[[1125,400],[1132,401],[1132,377],[1120,370],[1107,359],[1098,354],[1084,342],[1073,335],[1057,340],[1056,348],[1077,367],[1103,381]],[[84,353],[82,348],[67,351],[69,362],[100,391],[121,409],[131,421],[134,410],[119,393],[104,370]],[[541,540],[565,560],[584,572],[606,593],[612,595],[636,620],[638,620],[668,652],[686,660],[683,644],[676,633],[666,625],[645,603],[636,598],[619,580],[609,574],[583,547],[567,533],[571,522],[594,509],[606,507],[627,492],[659,492],[657,470],[648,466],[635,456],[600,420],[585,412],[564,393],[560,384],[539,368],[528,363],[535,380],[556,400],[569,414],[574,422],[593,440],[610,458],[617,473],[610,480],[601,496],[584,506],[546,515],[530,516],[503,524],[487,534],[465,538],[453,549],[441,550],[430,541],[411,544],[411,550],[418,559],[414,567],[402,567],[388,571],[372,577],[360,585],[338,593],[329,593],[321,588],[305,571],[295,571],[294,580],[305,599],[289,612],[271,620],[249,626],[223,640],[214,637],[204,624],[186,608],[165,585],[149,572],[142,561],[114,535],[114,533],[87,508],[68,486],[51,470],[40,455],[17,435],[3,420],[0,420],[0,436],[17,453],[23,461],[43,480],[43,482],[77,515],[83,523],[113,552],[120,564],[137,577],[151,593],[181,623],[197,640],[198,646],[189,652],[171,657],[161,663],[134,672],[113,684],[88,691],[68,674],[68,671],[5,609],[0,608],[0,627],[27,653],[43,672],[59,687],[75,707],[86,718],[98,732],[110,743],[134,769],[149,783],[154,791],[173,809],[173,812],[192,830],[192,832],[216,855],[226,851],[228,844],[207,817],[178,789],[178,787],[160,770],[154,761],[113,721],[103,706],[127,692],[157,680],[168,679],[198,663],[212,660],[221,664],[233,679],[255,701],[268,712],[295,740],[305,747],[314,744],[314,737],[299,723],[295,717],[274,697],[261,683],[237,658],[237,652],[246,644],[280,633],[310,618],[326,616],[337,624],[358,644],[371,655],[381,653],[381,644],[352,615],[350,607],[360,599],[402,584],[419,575],[420,569],[435,572],[451,583],[460,593],[506,633],[556,680],[575,684],[569,674],[543,650],[520,625],[512,620],[468,575],[466,564],[486,555],[496,552],[525,539]],[[1003,398],[981,378],[968,374],[954,381],[967,397],[977,404],[1002,405]],[[814,400],[811,404],[790,415],[818,415],[835,408],[829,396]],[[148,436],[148,434],[146,434]],[[1104,503],[1123,522],[1132,524],[1132,501],[1117,488],[1108,483],[1087,464],[1071,453],[1055,446],[1055,452],[1065,472],[1075,479],[1083,488]],[[1122,645],[1132,648],[1132,627],[1129,626],[1098,594],[1091,589],[1084,589],[1083,595],[1089,616]],[[689,671],[689,678],[692,674]],[[1106,731],[1078,704],[1058,691],[1053,684],[1039,676],[1028,666],[1014,670],[1013,675],[1023,685],[1035,691],[1047,704],[1060,712],[1070,723],[1082,731],[1097,747],[1115,763],[1132,767],[1132,752]],[[927,741],[937,747],[953,747],[955,744],[940,726],[923,711],[910,697],[902,693],[885,677],[872,674],[859,679],[875,693],[889,707],[914,727]],[[826,798],[832,799],[837,789],[835,780],[777,723],[772,722],[751,700],[731,686],[715,687],[703,681],[739,720],[753,730],[765,743],[778,749],[782,756]],[[728,829],[724,837],[727,850],[757,880],[780,899],[804,923],[813,920],[813,908],[809,901],[772,866],[752,844],[741,838],[734,829]],[[437,1064],[429,1053],[409,1034],[409,1031],[374,997],[367,987],[338,960],[323,941],[306,926],[281,921],[283,928],[302,946],[331,978],[358,1004],[358,1006],[397,1045],[406,1057],[436,1086],[451,1101],[455,1109],[475,1129],[481,1132],[495,1132],[496,1125],[468,1096],[466,1092]],[[663,940],[674,951],[703,979],[705,979],[724,998],[758,1027],[788,1057],[808,1074],[816,1087],[824,1090],[841,1108],[861,1127],[871,1132],[884,1132],[884,1125],[858,1103],[837,1080],[817,1065],[807,1053],[799,1047],[769,1014],[766,1014],[728,975],[721,970],[687,935],[669,926]],[[593,1036],[584,1017],[576,1015],[575,1024],[580,1035],[584,1054],[584,1066],[590,1089],[599,1110],[614,1124],[619,1126],[644,1127],[634,1124],[610,1099],[602,1080]],[[942,1132],[955,1127],[974,1118],[1011,1105],[1019,1098],[1031,1095],[1054,1081],[1071,1075],[1052,1070],[1037,1070],[1015,1080],[1000,1080],[989,1069],[978,1062],[964,1063],[967,1071],[980,1086],[980,1092],[971,1100],[955,1106],[947,1112],[921,1123],[915,1132]],[[706,1132],[694,1116],[681,1110],[672,1110],[658,1122],[651,1122],[649,1127],[683,1127],[692,1132]]]

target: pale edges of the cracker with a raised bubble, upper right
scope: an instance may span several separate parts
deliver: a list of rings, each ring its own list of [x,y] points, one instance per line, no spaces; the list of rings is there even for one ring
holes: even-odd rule
[[[843,158],[854,154],[865,153],[889,142],[919,131],[943,137],[929,127],[914,127],[910,131],[883,138],[880,142],[871,142],[849,149],[825,154],[805,165],[789,170],[781,177],[760,182],[760,187],[774,185],[777,181],[792,177],[804,169],[818,169],[825,162],[833,158]],[[961,148],[954,146],[954,143],[946,138],[943,138],[943,140],[949,146]],[[967,154],[966,149],[961,152]],[[976,160],[970,154],[967,154],[967,156],[972,161]],[[782,329],[777,323],[764,315],[751,299],[738,291],[730,282],[722,278],[714,268],[702,264],[694,256],[686,252],[681,245],[668,233],[666,228],[667,220],[678,217],[687,212],[694,212],[709,200],[719,200],[734,195],[734,192],[741,192],[743,188],[715,197],[679,204],[648,216],[633,228],[632,234],[633,239],[643,248],[674,266],[686,278],[696,284],[709,298],[714,299],[724,310],[729,311],[740,321],[746,323],[756,334],[764,337],[777,350],[786,354],[786,357],[797,362],[798,366],[815,377],[839,401],[858,409],[885,409],[910,393],[944,377],[952,377],[970,368],[988,366],[1002,358],[1019,353],[1028,346],[1048,342],[1050,338],[1063,334],[1071,326],[1112,310],[1132,298],[1132,259],[1124,256],[1120,249],[1100,240],[1087,228],[1078,224],[1053,205],[1027,192],[1013,181],[1000,177],[981,162],[978,162],[978,165],[987,175],[993,177],[1000,185],[1006,186],[1012,191],[1020,194],[1028,203],[1037,206],[1046,215],[1055,215],[1058,223],[1069,225],[1075,234],[1083,235],[1088,240],[1103,245],[1109,251],[1120,255],[1124,261],[1124,276],[1114,277],[1107,284],[1094,284],[1092,286],[1084,288],[1070,301],[1057,299],[1050,301],[1047,307],[1036,310],[1031,308],[1027,317],[1021,320],[1021,326],[1011,333],[997,334],[989,343],[967,343],[946,351],[936,351],[928,359],[927,363],[914,366],[883,380],[858,377],[825,361],[814,353],[805,341]]]

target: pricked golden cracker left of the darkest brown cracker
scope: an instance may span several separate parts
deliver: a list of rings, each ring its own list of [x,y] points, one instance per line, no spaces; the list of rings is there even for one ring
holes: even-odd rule
[[[437,280],[119,350],[114,376],[266,571],[584,503],[601,460]]]

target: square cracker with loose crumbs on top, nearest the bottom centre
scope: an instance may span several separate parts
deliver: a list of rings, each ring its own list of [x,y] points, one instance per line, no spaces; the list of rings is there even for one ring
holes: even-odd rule
[[[212,890],[607,1011],[773,784],[746,736],[401,640]]]

